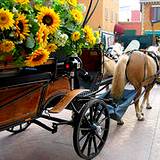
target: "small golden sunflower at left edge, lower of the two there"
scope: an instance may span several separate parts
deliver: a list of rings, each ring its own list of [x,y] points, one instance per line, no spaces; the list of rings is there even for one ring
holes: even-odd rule
[[[0,42],[0,50],[2,52],[8,53],[8,52],[11,52],[14,48],[15,48],[15,45],[10,40],[3,40],[2,42]]]

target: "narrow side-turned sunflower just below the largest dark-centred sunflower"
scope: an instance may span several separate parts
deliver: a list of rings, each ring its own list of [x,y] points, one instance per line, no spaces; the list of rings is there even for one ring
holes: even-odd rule
[[[49,32],[48,32],[46,25],[41,24],[40,28],[37,32],[37,41],[41,47],[46,47],[46,45],[48,43],[48,41],[47,41],[48,34],[49,34]]]

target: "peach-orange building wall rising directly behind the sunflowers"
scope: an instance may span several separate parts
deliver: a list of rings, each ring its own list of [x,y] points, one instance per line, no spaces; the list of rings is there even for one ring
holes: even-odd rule
[[[80,3],[84,3],[86,9],[89,7],[89,2],[86,0],[79,0]],[[93,0],[93,7],[96,4],[96,0]],[[91,9],[91,10],[92,10]],[[99,27],[106,31],[113,33],[114,26],[118,23],[119,19],[119,0],[101,0],[98,6],[89,20],[88,24],[94,29],[98,30]]]

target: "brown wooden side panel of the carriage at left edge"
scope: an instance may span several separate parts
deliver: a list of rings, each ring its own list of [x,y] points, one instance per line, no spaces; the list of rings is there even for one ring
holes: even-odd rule
[[[0,90],[0,126],[33,117],[37,113],[42,84]]]

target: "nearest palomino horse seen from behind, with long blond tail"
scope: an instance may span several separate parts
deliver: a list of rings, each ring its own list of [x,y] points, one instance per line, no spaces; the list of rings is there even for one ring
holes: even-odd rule
[[[112,80],[111,94],[115,100],[119,100],[123,94],[124,87],[130,82],[137,91],[135,97],[135,111],[138,120],[144,119],[142,109],[146,102],[147,109],[152,107],[149,104],[149,93],[153,88],[155,74],[158,65],[155,60],[147,54],[140,51],[133,51],[128,55],[122,55],[116,65]],[[139,97],[142,88],[145,87],[144,98],[142,104],[139,105]]]

